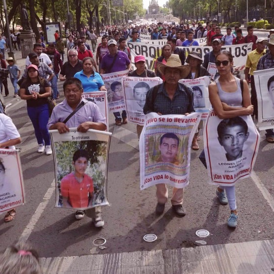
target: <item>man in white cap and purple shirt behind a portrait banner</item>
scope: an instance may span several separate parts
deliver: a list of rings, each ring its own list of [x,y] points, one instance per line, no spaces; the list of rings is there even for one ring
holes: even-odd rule
[[[107,42],[107,47],[109,53],[105,54],[101,61],[100,74],[114,73],[125,70],[131,70],[131,63],[125,52],[118,50],[117,42],[113,39]],[[114,112],[115,124],[122,125],[127,124],[126,112],[122,111],[122,116],[120,112]]]

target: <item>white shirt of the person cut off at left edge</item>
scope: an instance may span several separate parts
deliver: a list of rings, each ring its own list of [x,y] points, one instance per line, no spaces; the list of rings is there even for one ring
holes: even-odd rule
[[[3,113],[0,113],[0,143],[19,137],[20,134],[16,126],[12,123],[11,118]],[[14,146],[10,146],[9,148],[15,149]]]

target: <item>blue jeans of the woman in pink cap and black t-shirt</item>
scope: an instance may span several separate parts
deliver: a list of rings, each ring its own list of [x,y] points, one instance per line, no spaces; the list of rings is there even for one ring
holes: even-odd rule
[[[45,144],[46,146],[50,146],[50,134],[47,129],[47,124],[50,119],[48,104],[28,106],[27,114],[34,127],[38,145]]]

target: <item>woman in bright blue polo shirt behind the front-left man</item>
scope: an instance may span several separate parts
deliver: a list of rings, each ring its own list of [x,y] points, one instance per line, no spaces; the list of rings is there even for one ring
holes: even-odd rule
[[[84,92],[106,91],[101,75],[93,70],[91,57],[83,59],[83,69],[75,73],[74,77],[82,82]]]

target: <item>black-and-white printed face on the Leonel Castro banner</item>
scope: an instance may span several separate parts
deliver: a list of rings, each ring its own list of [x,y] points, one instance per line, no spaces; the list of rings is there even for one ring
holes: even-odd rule
[[[227,161],[243,156],[245,142],[249,138],[247,123],[241,117],[224,119],[217,126],[218,141],[225,150]]]

